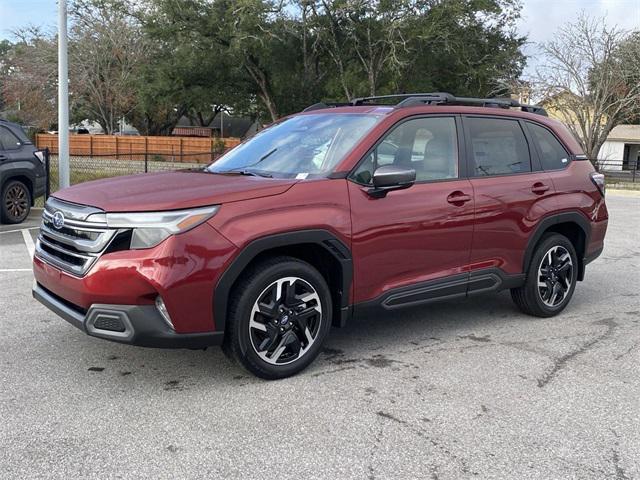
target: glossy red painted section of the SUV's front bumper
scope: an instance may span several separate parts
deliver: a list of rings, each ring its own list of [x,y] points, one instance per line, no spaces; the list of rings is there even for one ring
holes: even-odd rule
[[[220,332],[224,321],[213,318],[214,286],[235,249],[204,223],[153,248],[102,254],[84,276],[47,262],[36,246],[33,273],[45,291],[77,311],[94,305],[155,308],[160,296],[176,333]]]

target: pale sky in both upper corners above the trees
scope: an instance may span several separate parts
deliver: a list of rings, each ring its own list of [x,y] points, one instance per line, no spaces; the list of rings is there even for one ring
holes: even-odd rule
[[[529,37],[525,54],[530,57],[525,75],[535,70],[536,46],[582,11],[606,16],[609,25],[631,30],[640,28],[640,0],[522,0],[518,32]],[[56,0],[0,0],[0,40],[11,39],[11,30],[29,25],[54,29],[57,24]]]

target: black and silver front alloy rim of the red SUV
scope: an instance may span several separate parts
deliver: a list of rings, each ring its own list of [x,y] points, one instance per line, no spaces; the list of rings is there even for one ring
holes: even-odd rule
[[[249,320],[251,346],[271,365],[300,359],[316,341],[323,320],[320,296],[299,277],[284,277],[258,295]]]

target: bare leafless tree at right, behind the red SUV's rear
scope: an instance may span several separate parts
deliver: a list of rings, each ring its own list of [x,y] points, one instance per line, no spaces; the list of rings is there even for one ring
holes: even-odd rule
[[[618,124],[640,109],[640,41],[604,19],[582,15],[542,45],[536,84],[595,162]],[[635,59],[635,61],[633,60]]]

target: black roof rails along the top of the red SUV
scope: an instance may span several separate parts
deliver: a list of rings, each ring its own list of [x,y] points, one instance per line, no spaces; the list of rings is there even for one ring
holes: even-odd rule
[[[398,100],[394,104],[379,103],[381,100]],[[325,104],[316,103],[303,111],[319,110],[322,108],[334,108],[342,106],[359,106],[359,105],[390,105],[395,108],[415,107],[418,105],[460,105],[460,106],[477,106],[489,108],[519,108],[523,112],[535,113],[547,116],[544,108],[537,105],[527,105],[513,100],[511,98],[472,98],[472,97],[456,97],[446,92],[433,93],[402,93],[395,95],[380,95],[375,97],[355,98],[349,103]]]

